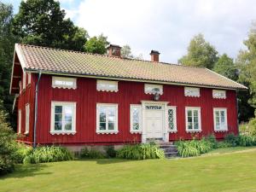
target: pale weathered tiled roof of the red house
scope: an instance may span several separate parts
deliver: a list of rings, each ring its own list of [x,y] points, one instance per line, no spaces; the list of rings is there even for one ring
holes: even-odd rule
[[[52,49],[25,44],[15,45],[26,71],[127,79],[167,84],[191,84],[226,89],[247,89],[230,79],[201,67],[185,67],[161,62],[121,59],[107,55]]]

